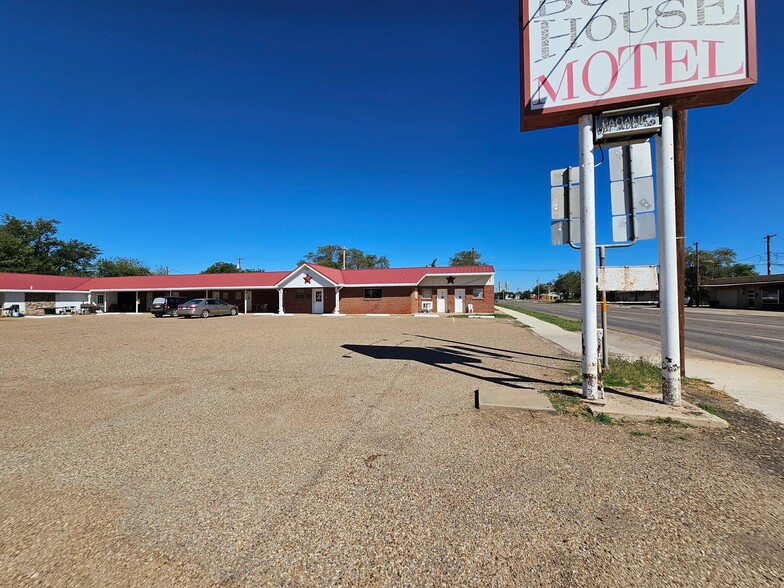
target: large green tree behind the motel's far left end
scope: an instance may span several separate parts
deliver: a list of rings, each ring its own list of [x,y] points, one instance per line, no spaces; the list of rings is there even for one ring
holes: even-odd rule
[[[101,253],[95,245],[56,237],[56,219],[35,221],[4,214],[0,223],[0,271],[87,275]]]

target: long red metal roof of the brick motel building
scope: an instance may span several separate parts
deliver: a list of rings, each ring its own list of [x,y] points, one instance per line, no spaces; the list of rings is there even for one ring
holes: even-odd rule
[[[493,266],[408,267],[367,270],[339,270],[307,264],[314,271],[339,285],[416,285],[428,275],[492,274]],[[299,269],[299,268],[297,268]],[[296,270],[294,270],[296,271]],[[247,272],[238,274],[185,274],[172,276],[126,276],[119,278],[83,278],[38,274],[0,273],[0,291],[33,290],[117,291],[117,290],[218,290],[223,288],[273,288],[293,272]]]

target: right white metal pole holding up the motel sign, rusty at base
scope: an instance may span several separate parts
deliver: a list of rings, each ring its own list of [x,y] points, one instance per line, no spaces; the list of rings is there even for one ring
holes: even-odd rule
[[[678,320],[678,251],[675,222],[675,134],[672,107],[662,108],[656,137],[659,183],[659,275],[661,306],[662,399],[681,404],[680,321]]]

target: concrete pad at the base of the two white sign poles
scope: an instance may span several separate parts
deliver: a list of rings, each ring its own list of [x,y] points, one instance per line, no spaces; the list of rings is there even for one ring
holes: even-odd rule
[[[586,404],[592,414],[603,414],[614,419],[651,421],[670,418],[693,427],[720,429],[729,426],[724,419],[688,402],[684,402],[682,406],[670,406],[654,396],[641,393],[606,392],[603,402],[586,402]]]

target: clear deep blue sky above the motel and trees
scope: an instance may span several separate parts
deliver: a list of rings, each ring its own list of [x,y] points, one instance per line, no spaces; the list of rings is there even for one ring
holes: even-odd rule
[[[784,263],[778,3],[759,83],[689,113],[687,242]],[[475,247],[497,281],[579,268],[550,245],[577,129],[519,131],[517,3],[0,4],[0,212],[178,273],[291,269],[339,243],[394,266]],[[599,240],[608,241],[601,188]],[[608,264],[655,264],[655,242]],[[784,265],[774,267],[784,272]]]

